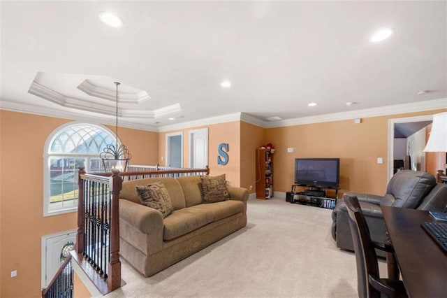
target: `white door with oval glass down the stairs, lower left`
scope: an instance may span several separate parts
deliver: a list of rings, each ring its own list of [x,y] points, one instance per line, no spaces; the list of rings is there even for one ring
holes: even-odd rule
[[[68,250],[74,248],[76,229],[42,237],[42,288],[47,288]]]

